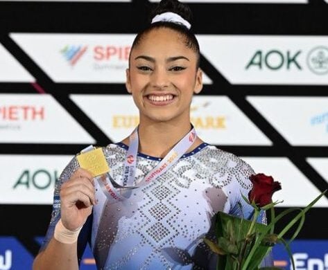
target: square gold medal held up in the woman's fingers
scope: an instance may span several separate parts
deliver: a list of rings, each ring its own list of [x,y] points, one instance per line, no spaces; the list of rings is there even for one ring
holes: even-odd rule
[[[78,154],[76,158],[78,159],[80,168],[88,170],[92,174],[92,177],[98,177],[98,175],[110,171],[101,147]]]

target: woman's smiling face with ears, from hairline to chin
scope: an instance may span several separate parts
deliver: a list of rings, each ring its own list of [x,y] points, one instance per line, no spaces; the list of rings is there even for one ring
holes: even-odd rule
[[[169,28],[146,33],[131,51],[126,75],[140,123],[189,123],[191,98],[202,89],[202,72],[180,33]]]

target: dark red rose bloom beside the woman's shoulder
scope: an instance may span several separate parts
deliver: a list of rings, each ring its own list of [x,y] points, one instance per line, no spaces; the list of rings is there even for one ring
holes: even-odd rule
[[[253,187],[248,193],[248,199],[250,202],[254,201],[258,207],[272,203],[273,193],[282,189],[279,182],[273,181],[273,177],[266,174],[252,174],[250,181]]]

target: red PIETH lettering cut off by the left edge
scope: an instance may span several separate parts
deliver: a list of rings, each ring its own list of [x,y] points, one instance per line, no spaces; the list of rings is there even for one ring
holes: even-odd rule
[[[44,120],[44,107],[31,105],[0,106],[0,120]]]

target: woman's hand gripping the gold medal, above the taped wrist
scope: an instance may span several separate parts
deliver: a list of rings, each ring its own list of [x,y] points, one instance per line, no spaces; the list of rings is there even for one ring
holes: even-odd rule
[[[65,228],[75,231],[85,224],[96,204],[94,179],[87,170],[78,168],[60,190],[60,211]]]

